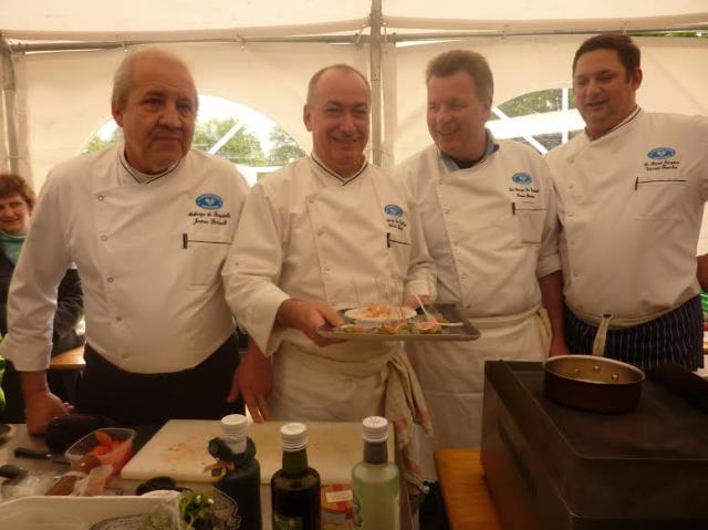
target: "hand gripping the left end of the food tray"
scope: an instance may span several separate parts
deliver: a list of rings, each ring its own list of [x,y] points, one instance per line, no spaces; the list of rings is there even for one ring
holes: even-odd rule
[[[319,300],[308,302],[294,299],[285,300],[278,308],[275,321],[284,328],[294,328],[302,331],[317,346],[344,342],[336,339],[326,339],[317,334],[317,330],[324,324],[330,324],[333,328],[344,324],[340,313],[326,302]]]

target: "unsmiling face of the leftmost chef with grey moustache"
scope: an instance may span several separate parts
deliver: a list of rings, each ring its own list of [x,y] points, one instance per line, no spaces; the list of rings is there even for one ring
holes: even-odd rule
[[[123,127],[125,156],[135,169],[155,175],[184,157],[191,146],[197,93],[189,72],[169,58],[137,59],[123,108],[113,108]]]

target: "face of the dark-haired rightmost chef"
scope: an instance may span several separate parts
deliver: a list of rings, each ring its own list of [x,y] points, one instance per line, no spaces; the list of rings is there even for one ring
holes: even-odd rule
[[[594,50],[577,59],[573,91],[592,138],[603,136],[632,114],[641,84],[642,70],[637,67],[627,75],[614,50]]]

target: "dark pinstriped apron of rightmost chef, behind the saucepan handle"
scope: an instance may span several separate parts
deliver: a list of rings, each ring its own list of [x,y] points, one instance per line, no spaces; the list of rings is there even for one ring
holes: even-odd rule
[[[572,353],[590,355],[597,326],[565,306],[565,342]],[[612,325],[612,322],[610,323]],[[650,370],[674,362],[690,371],[704,365],[704,314],[698,297],[658,319],[607,331],[605,356]]]

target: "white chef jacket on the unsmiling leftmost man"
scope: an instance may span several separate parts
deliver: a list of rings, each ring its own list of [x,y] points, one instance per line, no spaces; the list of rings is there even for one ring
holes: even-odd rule
[[[72,262],[84,289],[86,341],[125,371],[196,366],[235,331],[220,272],[246,181],[227,160],[190,150],[139,184],[123,148],[73,158],[46,178],[0,346],[20,371],[49,366],[56,285]]]

